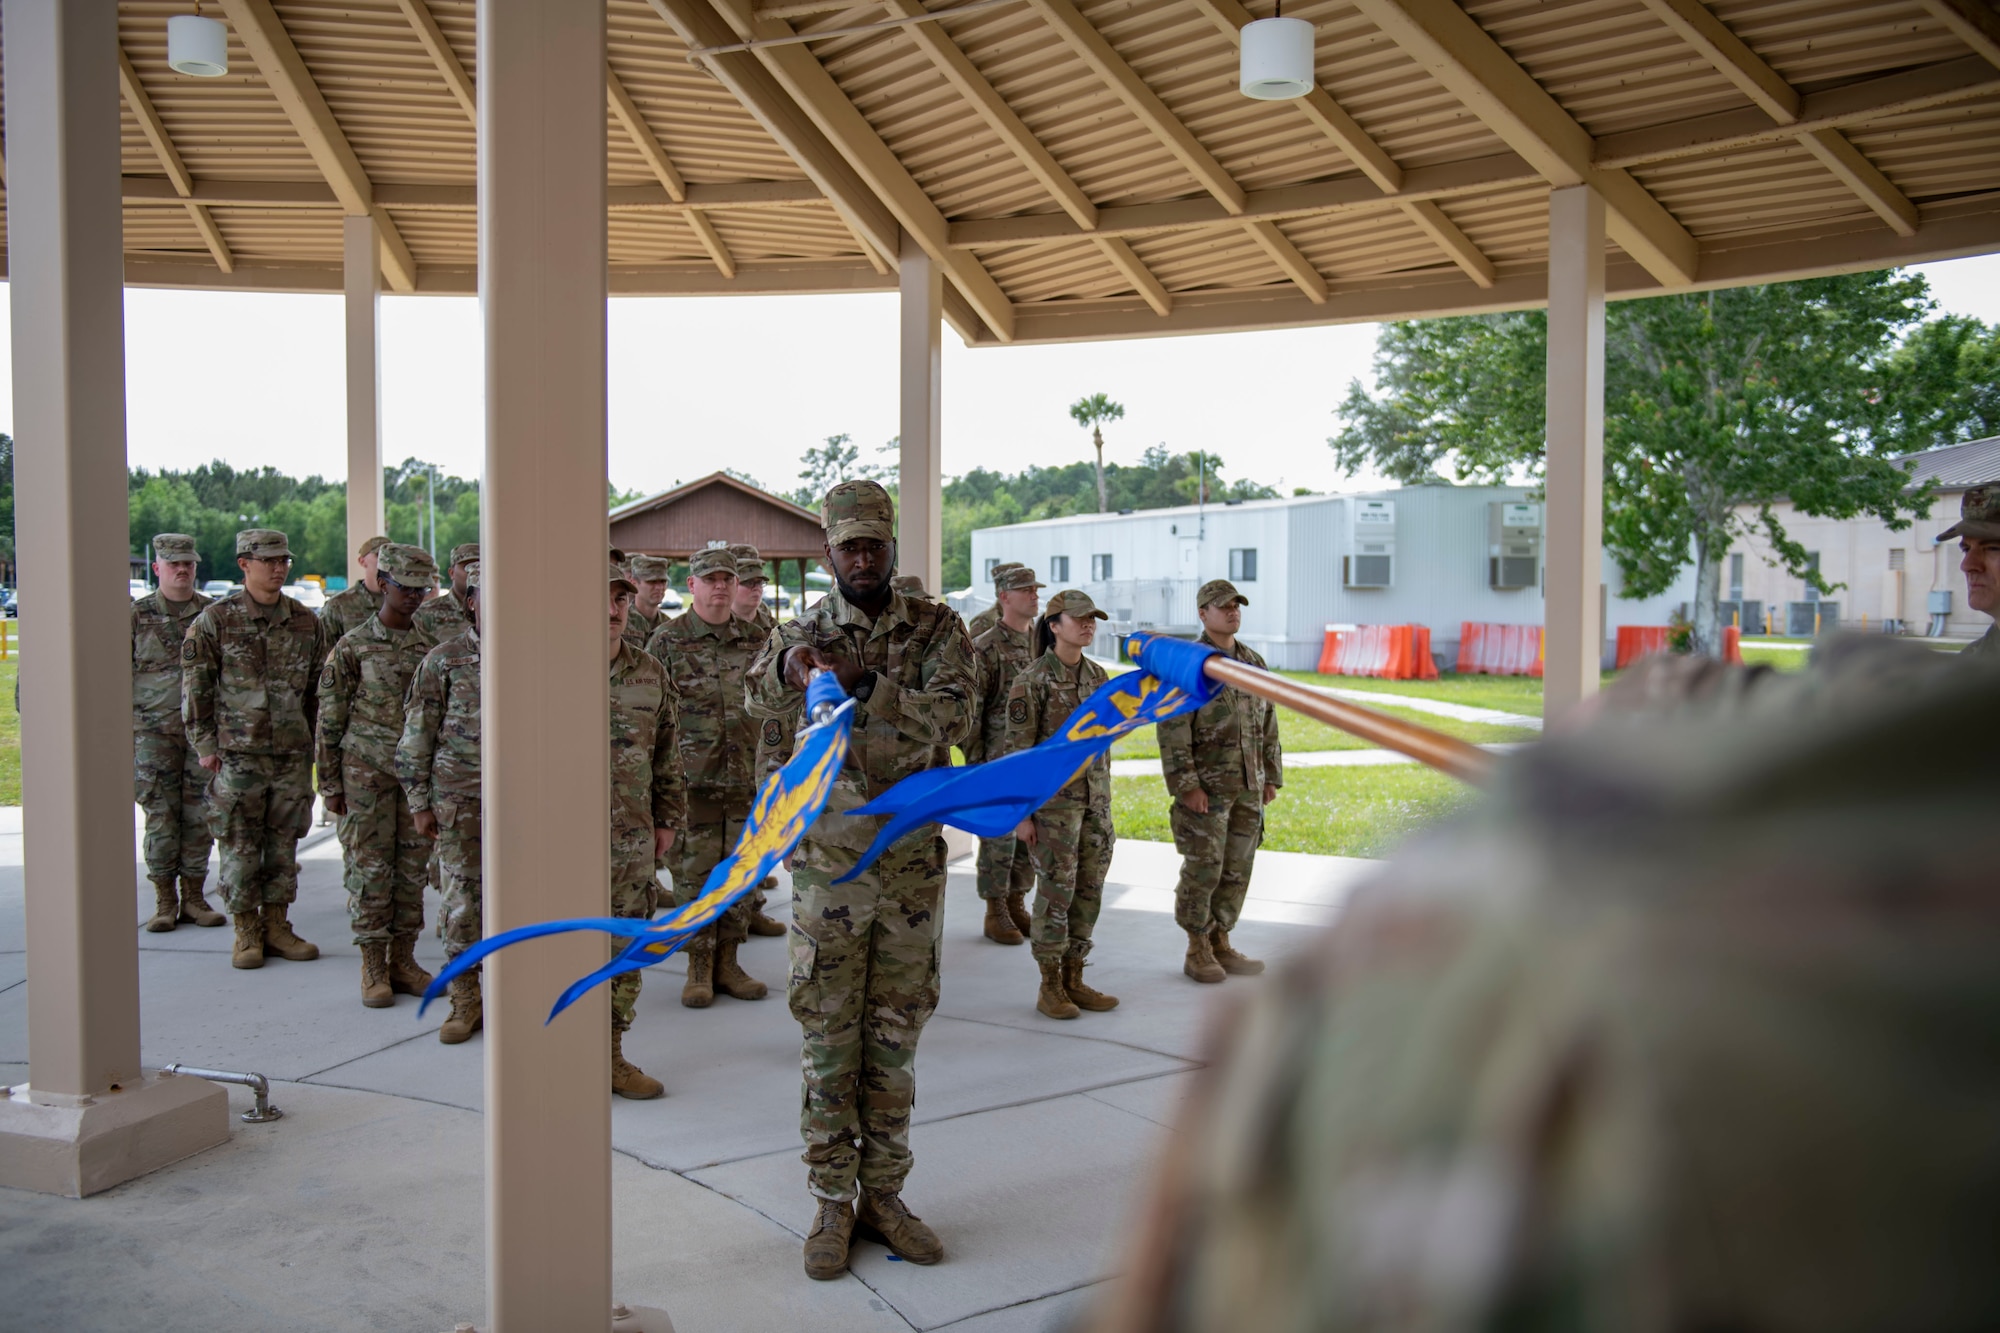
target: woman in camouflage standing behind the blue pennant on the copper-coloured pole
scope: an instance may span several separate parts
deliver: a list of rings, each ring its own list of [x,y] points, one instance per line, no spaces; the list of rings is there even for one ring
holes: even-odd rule
[[[1034,626],[1038,658],[1014,679],[1006,697],[1006,753],[1026,751],[1062,731],[1076,705],[1110,677],[1084,656],[1104,612],[1088,594],[1056,592]],[[1048,803],[1020,821],[1014,837],[1034,849],[1034,961],[1042,991],[1034,1007],[1050,1019],[1074,1019],[1078,1009],[1118,1007],[1116,995],[1084,985],[1090,935],[1104,907],[1104,875],[1112,869],[1112,765],[1090,761]]]

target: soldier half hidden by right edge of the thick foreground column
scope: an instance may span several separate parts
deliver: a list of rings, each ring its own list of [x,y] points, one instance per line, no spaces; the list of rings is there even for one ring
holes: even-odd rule
[[[674,831],[688,823],[688,789],[680,779],[678,701],[660,662],[626,642],[626,622],[638,584],[610,568],[612,671],[612,917],[650,917],[660,905],[660,861],[674,849]],[[638,1005],[640,975],[612,979],[612,1093],[646,1101],[666,1087],[624,1057],[624,1035]]]

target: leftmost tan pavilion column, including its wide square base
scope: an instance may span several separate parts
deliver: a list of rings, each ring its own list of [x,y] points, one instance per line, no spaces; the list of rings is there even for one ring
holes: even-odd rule
[[[28,1083],[0,1185],[82,1197],[230,1137],[212,1083],[140,1069],[126,506],[118,6],[6,0],[8,268],[22,592]],[[122,532],[118,524],[110,530]]]

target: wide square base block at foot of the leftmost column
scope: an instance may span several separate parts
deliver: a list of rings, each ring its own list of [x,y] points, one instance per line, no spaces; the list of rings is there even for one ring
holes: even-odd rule
[[[206,1079],[146,1073],[100,1097],[0,1099],[0,1185],[82,1199],[226,1143],[230,1099]]]

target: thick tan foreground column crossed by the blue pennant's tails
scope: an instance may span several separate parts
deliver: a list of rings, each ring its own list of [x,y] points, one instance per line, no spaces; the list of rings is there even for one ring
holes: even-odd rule
[[[610,915],[604,6],[478,0],[486,933]],[[610,957],[484,967],[486,1333],[608,1329]]]

